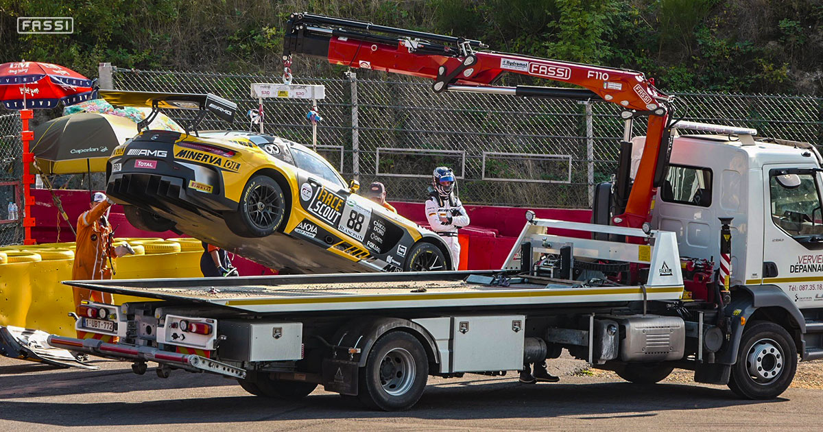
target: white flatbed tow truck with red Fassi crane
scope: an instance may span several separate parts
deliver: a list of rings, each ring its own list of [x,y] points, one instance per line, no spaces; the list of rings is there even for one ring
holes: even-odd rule
[[[70,281],[155,301],[81,304],[77,330],[88,339],[0,328],[0,351],[64,360],[44,350],[48,341],[131,361],[137,374],[148,363],[160,377],[221,374],[263,397],[323,385],[382,410],[413,406],[429,375],[499,374],[563,350],[635,383],[690,369],[696,382],[751,399],[783,393],[798,359],[823,358],[814,146],[670,121],[671,98],[638,72],[474,52],[478,41],[309,14],[291,17],[286,39],[292,52],[335,63],[436,75],[435,91],[619,103],[616,182],[595,188],[592,224],[526,211],[501,270]],[[588,90],[469,85],[501,69],[545,76],[549,67]],[[649,132],[632,139],[641,115]]]

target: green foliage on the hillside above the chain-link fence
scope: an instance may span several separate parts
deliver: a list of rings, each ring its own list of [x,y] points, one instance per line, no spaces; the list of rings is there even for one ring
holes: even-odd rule
[[[59,63],[90,77],[100,62],[275,72],[284,23],[303,11],[463,35],[500,51],[629,67],[669,92],[823,93],[823,7],[801,1],[753,7],[733,0],[0,0],[0,62]],[[17,35],[18,16],[72,16],[75,34]],[[310,64],[299,73],[339,72]]]

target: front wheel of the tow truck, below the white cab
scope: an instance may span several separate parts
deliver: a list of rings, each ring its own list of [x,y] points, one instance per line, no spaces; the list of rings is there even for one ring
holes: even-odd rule
[[[775,323],[750,323],[743,330],[728,388],[746,399],[771,399],[783,393],[797,371],[797,346]]]

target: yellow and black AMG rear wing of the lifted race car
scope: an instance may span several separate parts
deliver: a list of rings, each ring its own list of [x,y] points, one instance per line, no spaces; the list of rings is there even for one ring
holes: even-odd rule
[[[115,91],[101,90],[100,97],[111,105],[119,106],[140,106],[151,108],[151,114],[146,116],[142,122],[137,123],[137,130],[146,128],[160,112],[160,109],[198,109],[198,115],[188,123],[185,128],[197,131],[198,124],[211,112],[226,120],[233,122],[237,104],[230,100],[225,100],[220,96],[198,93],[159,93],[151,91]]]

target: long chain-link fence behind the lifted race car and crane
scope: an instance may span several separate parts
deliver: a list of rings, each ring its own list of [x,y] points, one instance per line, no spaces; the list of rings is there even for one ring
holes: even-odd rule
[[[101,73],[101,77],[103,74]],[[207,118],[205,128],[258,130],[253,82],[281,77],[114,68],[118,90],[212,92],[239,105],[235,123]],[[614,104],[445,92],[430,83],[385,79],[358,70],[345,78],[296,77],[323,84],[318,151],[344,177],[381,181],[388,198],[421,201],[431,171],[453,168],[463,202],[527,207],[588,207],[592,185],[615,172],[623,135]],[[823,99],[787,95],[677,95],[675,117],[757,128],[760,136],[823,144]],[[306,100],[264,100],[264,129],[306,145]],[[185,112],[167,113],[177,120]],[[190,117],[188,117],[190,118]],[[645,133],[636,121],[634,134]]]

